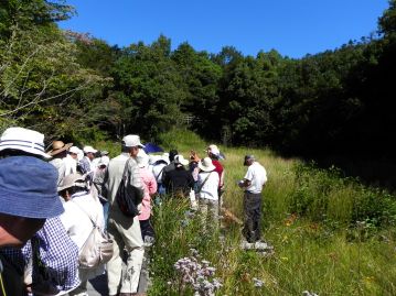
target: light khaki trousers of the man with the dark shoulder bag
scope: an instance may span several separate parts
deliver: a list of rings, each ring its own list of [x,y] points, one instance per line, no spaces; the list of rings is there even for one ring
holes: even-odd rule
[[[114,239],[114,254],[107,263],[109,295],[136,293],[139,285],[145,249],[138,217],[129,218],[117,209],[110,209],[108,233]],[[122,272],[122,254],[127,252],[126,268]]]

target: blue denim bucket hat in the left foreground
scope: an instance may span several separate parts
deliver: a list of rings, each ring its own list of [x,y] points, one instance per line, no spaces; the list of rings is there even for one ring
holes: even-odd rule
[[[0,160],[0,212],[45,219],[64,209],[57,195],[56,168],[36,157],[10,156]]]

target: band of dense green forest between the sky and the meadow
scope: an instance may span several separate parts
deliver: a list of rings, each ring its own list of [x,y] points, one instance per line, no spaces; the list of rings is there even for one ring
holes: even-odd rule
[[[22,125],[49,142],[126,133],[159,141],[188,127],[224,145],[324,163],[396,163],[395,0],[375,34],[302,58],[276,50],[244,56],[233,46],[199,52],[189,43],[172,51],[164,35],[111,46],[58,28],[75,13],[61,0],[1,1],[0,130]],[[378,171],[377,178],[394,169]]]

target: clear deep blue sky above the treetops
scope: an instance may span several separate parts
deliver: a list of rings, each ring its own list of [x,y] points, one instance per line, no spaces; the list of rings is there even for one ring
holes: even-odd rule
[[[78,15],[60,26],[90,33],[110,45],[150,44],[160,34],[172,50],[189,42],[218,53],[277,50],[302,57],[334,50],[377,30],[387,0],[67,0]]]

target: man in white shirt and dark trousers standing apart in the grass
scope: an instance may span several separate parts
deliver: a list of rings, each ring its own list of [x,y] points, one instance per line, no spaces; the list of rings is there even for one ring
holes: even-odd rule
[[[238,183],[239,187],[245,190],[243,234],[248,243],[259,243],[261,238],[261,190],[267,182],[267,172],[263,165],[256,162],[254,155],[246,155],[244,165],[248,168],[244,179]]]

